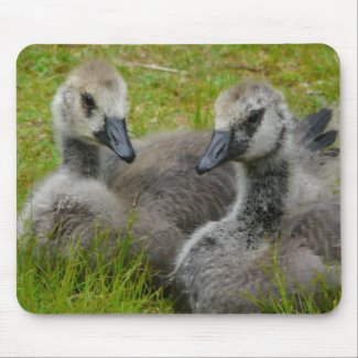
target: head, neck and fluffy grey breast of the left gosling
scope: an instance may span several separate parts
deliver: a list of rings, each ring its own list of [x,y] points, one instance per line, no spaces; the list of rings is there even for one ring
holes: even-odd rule
[[[20,237],[35,236],[58,253],[102,230],[117,236],[123,207],[100,178],[100,147],[130,163],[127,86],[111,66],[94,61],[74,69],[57,90],[53,122],[62,164],[39,183],[18,219]]]

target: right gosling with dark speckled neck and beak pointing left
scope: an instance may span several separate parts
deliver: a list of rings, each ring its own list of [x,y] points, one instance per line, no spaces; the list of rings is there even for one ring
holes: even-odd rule
[[[306,126],[307,135],[302,135],[300,126]],[[292,206],[292,197],[296,197],[295,176],[301,175],[303,163],[310,158],[308,166],[318,172],[336,156],[335,151],[323,150],[334,142],[336,131],[315,137],[325,126],[322,118],[312,124],[310,118],[297,124],[284,98],[265,84],[238,85],[219,96],[215,132],[196,169],[204,174],[226,161],[237,162],[242,173],[237,181],[239,196],[225,218],[196,230],[178,253],[171,275],[178,311],[259,312],[248,295],[278,296],[278,288],[263,270],[272,263],[274,245],[279,246],[278,262],[286,274],[289,293],[295,292],[296,284],[313,290],[318,272],[330,284],[338,284],[335,270],[327,272],[324,264],[326,259],[333,262],[340,258],[337,198],[312,204],[303,216],[286,220],[286,234],[282,230],[283,217],[291,210],[286,204]],[[329,220],[329,215],[335,220]],[[305,224],[312,219],[311,231],[324,221],[319,237],[306,235]],[[328,231],[332,238],[326,238]]]

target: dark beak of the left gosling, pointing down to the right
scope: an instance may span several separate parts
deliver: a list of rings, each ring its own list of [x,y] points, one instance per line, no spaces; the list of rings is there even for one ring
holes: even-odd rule
[[[95,133],[95,137],[119,158],[131,163],[135,153],[128,135],[126,119],[105,118],[105,127]]]

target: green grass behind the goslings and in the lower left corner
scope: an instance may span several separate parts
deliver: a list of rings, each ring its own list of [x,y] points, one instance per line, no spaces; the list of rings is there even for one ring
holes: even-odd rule
[[[52,98],[67,73],[90,58],[108,59],[128,82],[132,138],[163,129],[210,129],[218,94],[245,78],[271,83],[283,91],[299,117],[324,106],[336,106],[339,100],[338,58],[325,45],[29,46],[19,55],[17,74],[19,209],[33,183],[59,163],[51,122]],[[156,64],[180,72],[149,69],[132,63]],[[57,271],[53,271],[53,265],[39,271],[42,261],[28,246],[20,245],[18,295],[22,305],[32,312],[171,311],[161,292],[144,289],[148,270],[141,269],[143,276],[138,278],[138,270],[127,268],[141,299],[123,296],[117,276],[101,285],[101,268],[83,276],[86,260],[82,257],[78,253],[72,261],[58,263]],[[123,272],[117,272],[118,278],[120,273]],[[52,291],[56,290],[61,292],[54,295]],[[121,295],[117,303],[116,294]],[[102,295],[107,300],[101,301]],[[101,308],[104,301],[109,303]]]

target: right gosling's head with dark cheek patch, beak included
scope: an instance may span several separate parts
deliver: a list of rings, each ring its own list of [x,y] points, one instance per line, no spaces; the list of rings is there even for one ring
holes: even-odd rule
[[[281,147],[292,128],[284,98],[267,84],[243,83],[220,94],[211,142],[196,166],[198,174],[227,162],[252,162]]]

